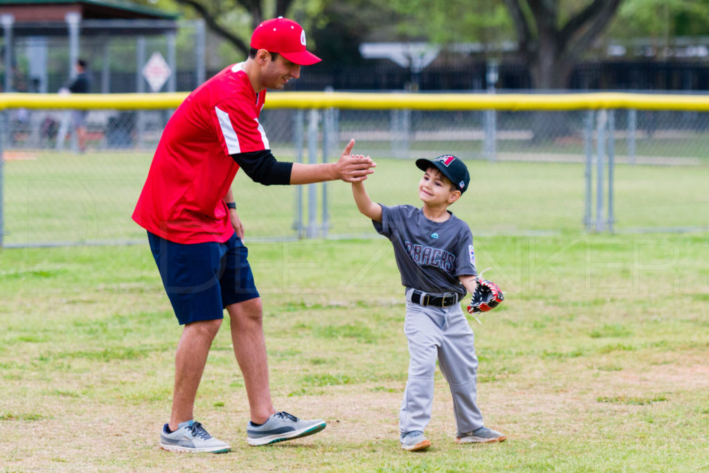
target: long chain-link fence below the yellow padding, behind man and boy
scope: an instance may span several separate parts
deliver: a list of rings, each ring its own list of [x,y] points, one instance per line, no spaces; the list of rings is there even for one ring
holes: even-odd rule
[[[171,112],[88,111],[86,152],[72,152],[72,111],[4,111],[3,244],[143,243],[130,214]],[[332,162],[354,138],[383,204],[420,205],[413,160],[457,155],[472,180],[452,211],[476,234],[709,229],[705,112],[267,108],[261,122],[279,160]],[[374,235],[348,184],[239,173],[233,188],[247,239]]]

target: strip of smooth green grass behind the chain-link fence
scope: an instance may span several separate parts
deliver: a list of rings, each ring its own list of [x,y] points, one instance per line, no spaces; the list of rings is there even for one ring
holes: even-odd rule
[[[578,232],[584,227],[584,165],[460,157],[467,160],[471,184],[451,210],[476,232]],[[292,159],[284,153],[279,158]],[[372,199],[386,205],[420,206],[417,186],[421,172],[413,160],[392,160],[386,155],[372,158],[377,162],[375,173],[367,179]],[[143,242],[145,232],[130,216],[150,160],[147,153],[45,152],[36,160],[6,162],[4,243]],[[709,196],[704,187],[708,181],[707,165],[617,165],[615,228],[705,227]],[[303,226],[312,218],[319,228],[324,220],[323,189],[327,189],[328,235],[374,235],[372,224],[354,206],[349,184],[312,185],[264,187],[238,173],[233,191],[247,238],[294,237],[298,199],[303,206]],[[317,199],[313,216],[308,208],[311,189]],[[595,218],[595,181],[592,190]],[[606,212],[604,204],[604,220]]]

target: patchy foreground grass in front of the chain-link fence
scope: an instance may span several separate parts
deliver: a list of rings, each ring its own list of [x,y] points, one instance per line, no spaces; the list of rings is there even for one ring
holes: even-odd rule
[[[506,291],[471,320],[479,405],[500,445],[453,442],[436,377],[428,452],[398,447],[408,352],[391,245],[254,243],[277,408],[319,435],[248,447],[228,321],[196,416],[228,455],[157,438],[180,329],[147,245],[0,252],[0,471],[701,471],[707,468],[709,235],[483,236]]]

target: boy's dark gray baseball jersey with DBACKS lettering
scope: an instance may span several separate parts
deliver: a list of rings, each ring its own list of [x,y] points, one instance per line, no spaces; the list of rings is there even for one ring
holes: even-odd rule
[[[434,294],[465,295],[458,276],[478,274],[467,223],[452,213],[445,222],[430,221],[420,208],[410,205],[382,205],[381,222],[373,223],[393,244],[401,284]]]

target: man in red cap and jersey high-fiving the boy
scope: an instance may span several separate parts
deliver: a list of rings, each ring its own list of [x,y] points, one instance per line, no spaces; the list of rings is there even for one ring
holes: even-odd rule
[[[254,30],[245,62],[223,69],[195,89],[165,127],[133,220],[147,230],[150,249],[175,315],[184,325],[175,361],[172,415],[160,447],[177,452],[228,452],[231,447],[194,421],[194,399],[211,343],[230,316],[235,357],[249,400],[250,445],[312,435],[325,421],[278,412],[271,401],[262,304],[242,243],[244,227],[231,184],[239,169],[255,182],[311,184],[367,179],[374,163],[351,155],[303,165],[271,154],[259,113],[266,89],[283,89],[301,65],[320,61],[306,50],[303,28],[288,18]]]

